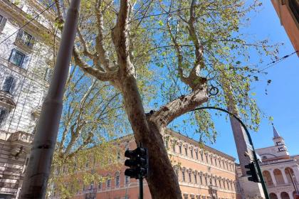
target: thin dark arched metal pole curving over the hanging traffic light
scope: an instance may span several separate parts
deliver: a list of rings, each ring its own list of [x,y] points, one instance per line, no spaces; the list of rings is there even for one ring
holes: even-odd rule
[[[267,190],[267,188],[266,188],[266,183],[265,183],[265,181],[264,181],[264,179],[263,179],[263,174],[261,173],[261,167],[260,167],[260,165],[259,165],[259,163],[258,163],[258,158],[257,158],[257,156],[256,156],[256,150],[255,150],[254,147],[253,147],[253,142],[252,142],[252,140],[251,140],[251,135],[249,134],[249,131],[248,131],[248,129],[246,128],[245,124],[241,121],[241,119],[239,119],[238,117],[236,117],[235,114],[233,114],[233,113],[227,111],[226,109],[221,109],[221,108],[218,108],[218,107],[199,107],[199,108],[196,108],[196,109],[191,110],[190,112],[192,112],[192,111],[196,111],[196,110],[201,110],[201,109],[216,109],[216,110],[219,110],[219,111],[222,111],[222,112],[226,112],[227,114],[230,114],[232,117],[234,117],[236,120],[238,120],[238,122],[240,122],[240,124],[242,125],[242,127],[243,127],[243,128],[245,129],[245,131],[246,131],[246,134],[247,134],[247,136],[248,136],[248,140],[249,140],[249,144],[251,144],[251,146],[252,146],[253,161],[256,162],[256,168],[257,168],[257,170],[258,170],[258,176],[259,176],[259,178],[260,178],[260,180],[261,180],[261,185],[262,185],[262,187],[263,187],[263,193],[264,193],[264,195],[265,195],[265,198],[266,198],[266,199],[269,199],[268,190]]]

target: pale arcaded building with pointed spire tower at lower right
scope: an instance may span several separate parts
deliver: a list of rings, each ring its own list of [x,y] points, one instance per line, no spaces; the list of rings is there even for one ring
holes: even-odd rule
[[[299,193],[299,155],[291,156],[285,141],[273,127],[273,146],[256,149],[271,199],[293,199]]]

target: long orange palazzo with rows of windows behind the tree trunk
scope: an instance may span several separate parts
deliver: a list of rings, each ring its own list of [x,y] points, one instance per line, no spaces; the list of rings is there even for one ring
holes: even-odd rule
[[[164,135],[164,144],[184,199],[240,198],[233,157],[209,146],[200,147],[193,139],[169,129]],[[133,136],[123,137],[120,148],[123,149],[122,152],[125,149],[135,149]],[[82,185],[73,198],[138,198],[139,183],[125,176],[127,167],[123,166],[125,161],[123,154],[120,153],[119,156],[122,163],[119,170],[110,172],[98,170],[101,175],[107,177],[107,180]],[[59,198],[58,190],[52,198]],[[151,198],[146,181],[144,181],[144,198]]]

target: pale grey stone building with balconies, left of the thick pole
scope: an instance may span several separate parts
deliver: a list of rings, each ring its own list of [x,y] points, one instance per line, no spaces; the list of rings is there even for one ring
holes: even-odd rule
[[[46,18],[55,20],[39,1],[0,0],[0,198],[18,198],[48,88],[53,50],[44,37],[57,38]]]

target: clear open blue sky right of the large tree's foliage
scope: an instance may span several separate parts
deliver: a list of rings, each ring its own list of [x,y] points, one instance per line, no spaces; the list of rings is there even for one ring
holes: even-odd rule
[[[268,38],[273,43],[284,43],[280,48],[280,57],[295,51],[283,26],[280,26],[271,1],[263,1],[263,9],[255,14],[246,30],[256,38]],[[297,55],[292,55],[268,68],[266,72],[268,75],[265,76],[265,80],[253,85],[258,106],[262,112],[274,118],[274,126],[285,139],[290,154],[299,154],[299,58]],[[268,87],[266,80],[272,80]],[[266,89],[268,95],[265,94]],[[229,121],[224,117],[217,117],[216,129],[219,131],[219,136],[216,144],[210,146],[237,158]],[[262,119],[258,132],[251,131],[251,136],[256,149],[273,145],[273,128],[267,118]]]

